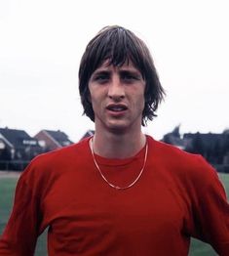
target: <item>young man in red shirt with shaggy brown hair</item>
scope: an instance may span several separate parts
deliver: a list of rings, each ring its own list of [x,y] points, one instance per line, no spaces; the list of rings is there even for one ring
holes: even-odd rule
[[[187,255],[190,237],[229,255],[229,206],[200,156],[141,132],[163,99],[150,53],[128,29],[103,28],[79,70],[95,136],[36,157],[22,173],[0,255]]]

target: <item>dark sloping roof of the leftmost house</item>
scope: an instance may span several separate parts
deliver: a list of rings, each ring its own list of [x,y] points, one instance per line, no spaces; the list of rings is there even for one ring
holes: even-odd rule
[[[24,148],[27,146],[37,146],[37,140],[30,137],[23,130],[0,128],[0,135],[10,147]]]

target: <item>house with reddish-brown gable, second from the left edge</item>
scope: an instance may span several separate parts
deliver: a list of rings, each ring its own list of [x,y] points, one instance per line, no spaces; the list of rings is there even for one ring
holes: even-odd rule
[[[68,136],[59,130],[41,130],[34,138],[38,140],[39,145],[46,151],[60,149],[73,144],[73,142],[68,139]]]

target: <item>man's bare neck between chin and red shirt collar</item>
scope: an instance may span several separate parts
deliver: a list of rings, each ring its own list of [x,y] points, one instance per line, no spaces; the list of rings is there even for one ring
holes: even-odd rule
[[[146,138],[141,131],[135,134],[98,133],[95,130],[93,147],[96,154],[107,158],[128,158],[145,146]]]

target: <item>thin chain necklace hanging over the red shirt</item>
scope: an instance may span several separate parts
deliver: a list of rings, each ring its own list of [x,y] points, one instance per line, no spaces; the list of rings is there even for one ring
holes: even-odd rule
[[[125,187],[116,186],[116,185],[110,183],[110,182],[106,179],[106,177],[103,175],[101,169],[99,168],[99,166],[98,166],[98,164],[97,164],[97,162],[96,162],[96,160],[95,160],[95,152],[94,152],[94,142],[93,142],[93,138],[91,139],[91,142],[92,142],[92,144],[91,144],[90,149],[91,149],[91,152],[92,152],[92,155],[93,155],[93,160],[94,160],[94,163],[95,163],[95,167],[97,168],[97,170],[98,170],[98,172],[99,172],[101,178],[102,178],[111,188],[116,189],[116,190],[127,190],[127,189],[133,187],[134,184],[139,180],[139,178],[140,178],[140,176],[141,176],[141,174],[143,173],[144,168],[145,168],[145,163],[146,163],[146,159],[147,159],[147,155],[148,155],[148,144],[147,144],[147,142],[146,142],[146,146],[145,146],[145,155],[144,155],[143,166],[142,166],[142,168],[141,168],[141,170],[140,170],[138,176],[135,178],[134,182],[132,182],[130,185],[125,186]]]

